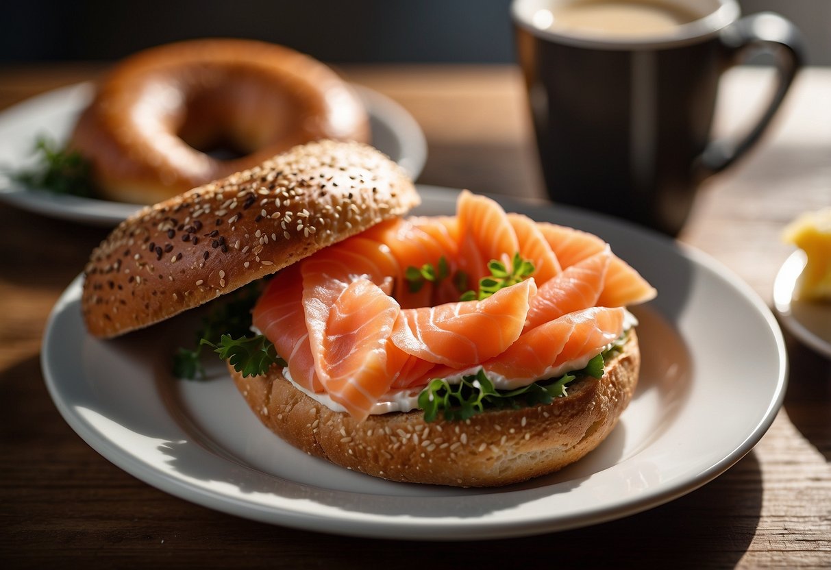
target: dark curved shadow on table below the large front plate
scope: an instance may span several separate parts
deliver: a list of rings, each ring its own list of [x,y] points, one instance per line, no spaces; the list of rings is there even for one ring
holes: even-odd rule
[[[562,533],[529,538],[452,543],[373,541],[320,535],[320,568],[733,568],[756,533],[762,505],[755,452],[710,484],[645,513]],[[245,523],[246,525],[249,523]],[[253,535],[279,537],[282,546],[307,540],[286,528]],[[264,536],[263,536],[264,538]],[[429,566],[433,566],[431,563]]]

